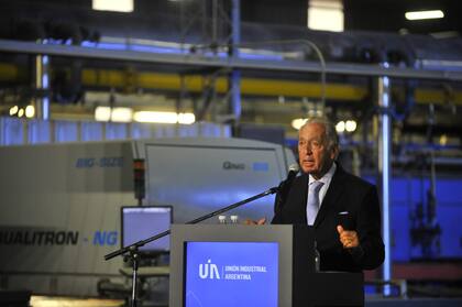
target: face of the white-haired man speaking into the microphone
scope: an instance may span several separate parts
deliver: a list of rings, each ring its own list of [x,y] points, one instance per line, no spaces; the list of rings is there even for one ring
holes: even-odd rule
[[[298,133],[298,158],[301,169],[316,179],[321,178],[332,165],[337,149],[328,147],[326,129],[320,123],[309,123]]]

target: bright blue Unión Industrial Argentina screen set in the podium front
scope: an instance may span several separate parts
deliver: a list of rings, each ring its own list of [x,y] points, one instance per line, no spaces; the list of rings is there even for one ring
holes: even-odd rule
[[[185,245],[185,307],[277,306],[277,242]]]

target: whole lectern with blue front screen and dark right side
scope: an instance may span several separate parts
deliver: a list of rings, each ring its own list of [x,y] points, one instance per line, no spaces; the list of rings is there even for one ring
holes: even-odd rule
[[[308,226],[174,224],[169,306],[363,306],[363,274],[316,272],[314,245]]]

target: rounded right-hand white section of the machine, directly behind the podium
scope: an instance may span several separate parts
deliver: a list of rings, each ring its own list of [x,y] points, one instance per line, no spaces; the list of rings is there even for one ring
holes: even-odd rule
[[[277,186],[287,174],[282,146],[249,140],[145,143],[147,200],[174,206],[184,223]],[[274,196],[226,215],[273,217]],[[211,219],[205,222],[213,223]]]

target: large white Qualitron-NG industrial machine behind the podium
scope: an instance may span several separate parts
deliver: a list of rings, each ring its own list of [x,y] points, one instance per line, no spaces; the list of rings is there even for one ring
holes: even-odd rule
[[[277,186],[295,162],[277,144],[220,138],[7,146],[0,156],[1,285],[78,296],[96,295],[101,279],[123,283],[122,259],[103,259],[120,246],[121,207],[169,205],[184,223]],[[273,200],[230,213],[271,218]]]

